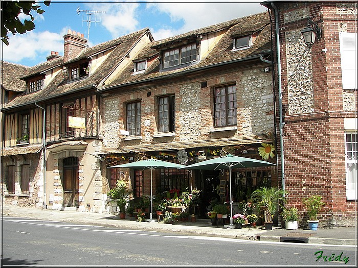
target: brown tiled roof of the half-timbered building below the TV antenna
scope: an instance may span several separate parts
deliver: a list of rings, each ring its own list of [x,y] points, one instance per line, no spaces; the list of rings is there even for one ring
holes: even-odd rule
[[[30,94],[20,94],[14,100],[4,105],[3,108],[8,109],[16,106],[33,104],[35,101],[46,101],[63,94],[95,88],[93,85],[98,85],[108,74],[110,74],[110,72],[114,70],[117,64],[119,64],[119,62],[127,55],[133,44],[135,44],[146,32],[150,34],[149,29],[145,28],[117,39],[98,44],[94,47],[86,48],[80,55],[76,57],[77,59],[89,57],[100,51],[115,46],[114,51],[110,53],[106,60],[96,69],[95,72],[93,72],[93,74],[90,74],[89,76],[79,80],[66,81],[60,73],[42,90],[32,92]],[[28,74],[28,76],[48,69],[49,66],[52,66],[51,64],[55,64],[55,62],[51,63],[52,61],[61,60],[63,60],[63,57],[51,60],[49,63],[46,62],[34,66],[31,68],[32,71]]]

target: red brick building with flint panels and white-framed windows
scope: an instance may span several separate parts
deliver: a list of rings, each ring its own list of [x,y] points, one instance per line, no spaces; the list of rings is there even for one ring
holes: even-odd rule
[[[300,224],[306,226],[302,199],[318,194],[326,203],[319,213],[321,226],[354,226],[356,2],[262,5],[270,10],[274,29],[277,167],[279,185],[288,192],[287,206],[299,209]],[[301,34],[307,23],[317,34],[311,47]]]

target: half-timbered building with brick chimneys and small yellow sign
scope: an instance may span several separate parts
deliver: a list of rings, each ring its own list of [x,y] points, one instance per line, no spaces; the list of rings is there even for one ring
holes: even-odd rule
[[[69,30],[63,57],[52,52],[47,62],[22,67],[19,80],[2,83],[9,92],[2,108],[5,203],[102,211],[108,185],[98,154],[102,138],[96,89],[152,40],[143,29],[87,47],[83,34]],[[3,62],[8,76],[10,65]]]

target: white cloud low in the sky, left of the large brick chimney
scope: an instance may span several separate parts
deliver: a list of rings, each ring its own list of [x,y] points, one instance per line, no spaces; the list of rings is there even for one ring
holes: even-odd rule
[[[46,61],[51,51],[57,51],[63,55],[63,34],[48,31],[11,34],[9,45],[3,45],[3,60],[21,63],[28,59],[40,63]]]

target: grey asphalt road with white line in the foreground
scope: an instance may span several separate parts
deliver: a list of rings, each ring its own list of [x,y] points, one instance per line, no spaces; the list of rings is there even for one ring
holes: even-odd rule
[[[353,246],[260,242],[9,216],[3,217],[2,225],[4,267],[356,266]]]

